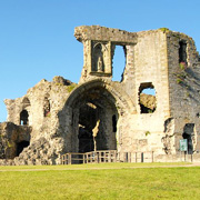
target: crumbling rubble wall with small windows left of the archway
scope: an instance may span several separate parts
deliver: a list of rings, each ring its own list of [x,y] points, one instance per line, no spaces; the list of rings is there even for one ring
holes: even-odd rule
[[[66,144],[64,136],[58,130],[58,112],[62,109],[70,91],[76,87],[71,81],[54,77],[52,82],[41,80],[29,89],[22,98],[4,101],[9,121],[6,127],[9,127],[9,129],[4,131],[4,128],[2,128],[0,134],[7,137],[11,134],[12,137],[8,139],[7,143],[13,147],[11,148],[13,149],[12,154],[6,156],[7,159],[17,157],[13,164],[52,164],[60,162],[59,158],[64,151]],[[27,114],[21,114],[23,112]],[[29,146],[20,154],[17,154],[18,130],[21,130],[20,134],[24,134],[26,129],[31,130],[29,131]],[[14,139],[16,137],[18,140]],[[3,143],[3,149],[8,149],[3,141],[0,143]]]

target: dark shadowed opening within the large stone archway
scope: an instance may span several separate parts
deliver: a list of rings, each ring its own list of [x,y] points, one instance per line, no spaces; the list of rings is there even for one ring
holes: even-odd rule
[[[118,119],[118,111],[107,89],[96,86],[82,92],[72,103],[72,116],[79,152],[117,149],[113,116]]]

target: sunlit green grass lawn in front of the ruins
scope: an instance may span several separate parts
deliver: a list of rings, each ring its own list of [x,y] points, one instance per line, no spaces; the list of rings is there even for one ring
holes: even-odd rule
[[[0,199],[199,200],[200,168],[173,164],[0,167]]]

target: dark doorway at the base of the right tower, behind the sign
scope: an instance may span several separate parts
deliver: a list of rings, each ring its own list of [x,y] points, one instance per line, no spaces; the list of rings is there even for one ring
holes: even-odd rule
[[[192,137],[194,136],[194,123],[187,123],[183,129],[182,138],[188,140],[188,153],[193,153]]]

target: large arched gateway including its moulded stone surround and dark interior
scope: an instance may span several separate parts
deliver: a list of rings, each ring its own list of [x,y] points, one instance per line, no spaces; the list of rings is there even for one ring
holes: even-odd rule
[[[60,124],[68,127],[67,151],[116,150],[119,119],[128,102],[110,81],[96,79],[78,87],[68,98]]]

